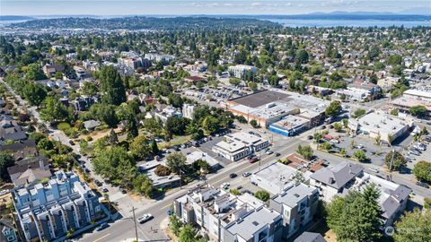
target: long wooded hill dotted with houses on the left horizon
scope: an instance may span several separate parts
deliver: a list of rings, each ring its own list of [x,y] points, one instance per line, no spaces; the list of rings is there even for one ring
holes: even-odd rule
[[[233,29],[280,28],[275,22],[257,19],[231,19],[209,17],[125,17],[112,19],[58,18],[13,23],[12,27],[29,29],[128,29],[128,30],[178,30],[178,29]]]

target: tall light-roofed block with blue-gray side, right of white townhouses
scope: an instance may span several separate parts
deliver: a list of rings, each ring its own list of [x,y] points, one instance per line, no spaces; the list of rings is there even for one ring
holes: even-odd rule
[[[290,238],[307,225],[317,211],[319,191],[314,186],[296,182],[269,200],[269,208],[283,216],[283,238]]]

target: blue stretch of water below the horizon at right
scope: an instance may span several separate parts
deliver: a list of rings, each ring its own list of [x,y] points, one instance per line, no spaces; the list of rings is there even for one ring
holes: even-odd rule
[[[264,19],[278,22],[286,27],[391,27],[404,26],[413,28],[417,26],[431,26],[431,21],[381,21],[381,20],[294,20],[294,19]]]

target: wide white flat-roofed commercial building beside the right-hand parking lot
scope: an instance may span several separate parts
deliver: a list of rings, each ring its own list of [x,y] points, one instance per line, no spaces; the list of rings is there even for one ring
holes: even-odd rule
[[[347,127],[354,133],[369,134],[371,138],[380,136],[381,141],[392,143],[413,126],[409,117],[396,117],[382,111],[372,112],[363,117],[349,118]]]

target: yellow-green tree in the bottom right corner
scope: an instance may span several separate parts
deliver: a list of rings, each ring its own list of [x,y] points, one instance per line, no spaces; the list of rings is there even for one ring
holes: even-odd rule
[[[395,222],[396,242],[431,241],[431,210],[406,212]]]

